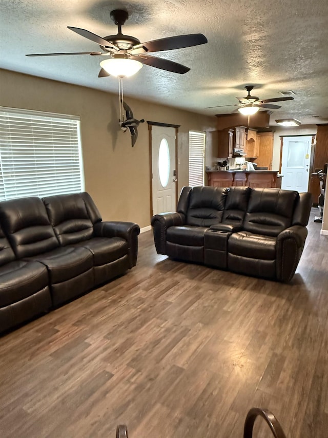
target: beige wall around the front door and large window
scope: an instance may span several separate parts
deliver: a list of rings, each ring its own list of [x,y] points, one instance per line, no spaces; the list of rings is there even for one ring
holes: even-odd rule
[[[129,132],[123,132],[118,125],[116,94],[1,69],[0,84],[2,106],[80,116],[85,189],[103,219],[132,221],[140,227],[150,224],[148,124],[139,126],[138,140],[131,147]],[[211,156],[211,131],[216,129],[216,118],[128,97],[125,100],[137,119],[180,125],[180,192],[188,185],[188,132],[207,131],[206,156]]]

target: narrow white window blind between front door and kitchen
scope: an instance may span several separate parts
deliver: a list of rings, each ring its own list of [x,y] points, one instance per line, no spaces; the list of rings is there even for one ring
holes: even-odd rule
[[[189,185],[204,185],[205,132],[189,131]]]

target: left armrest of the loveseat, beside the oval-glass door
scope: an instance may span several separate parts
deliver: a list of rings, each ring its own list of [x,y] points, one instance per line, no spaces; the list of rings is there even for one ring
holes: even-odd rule
[[[154,242],[157,254],[166,255],[166,231],[170,226],[182,226],[186,223],[186,216],[182,213],[159,213],[151,220],[154,233]]]

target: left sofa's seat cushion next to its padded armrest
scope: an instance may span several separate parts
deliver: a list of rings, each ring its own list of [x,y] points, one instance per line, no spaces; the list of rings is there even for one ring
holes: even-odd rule
[[[124,257],[129,252],[129,245],[120,237],[94,237],[72,246],[83,246],[93,255],[94,266],[102,266]]]

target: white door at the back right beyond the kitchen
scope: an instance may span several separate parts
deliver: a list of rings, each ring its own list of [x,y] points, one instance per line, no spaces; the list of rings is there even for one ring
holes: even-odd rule
[[[308,192],[312,137],[284,137],[281,188]]]

